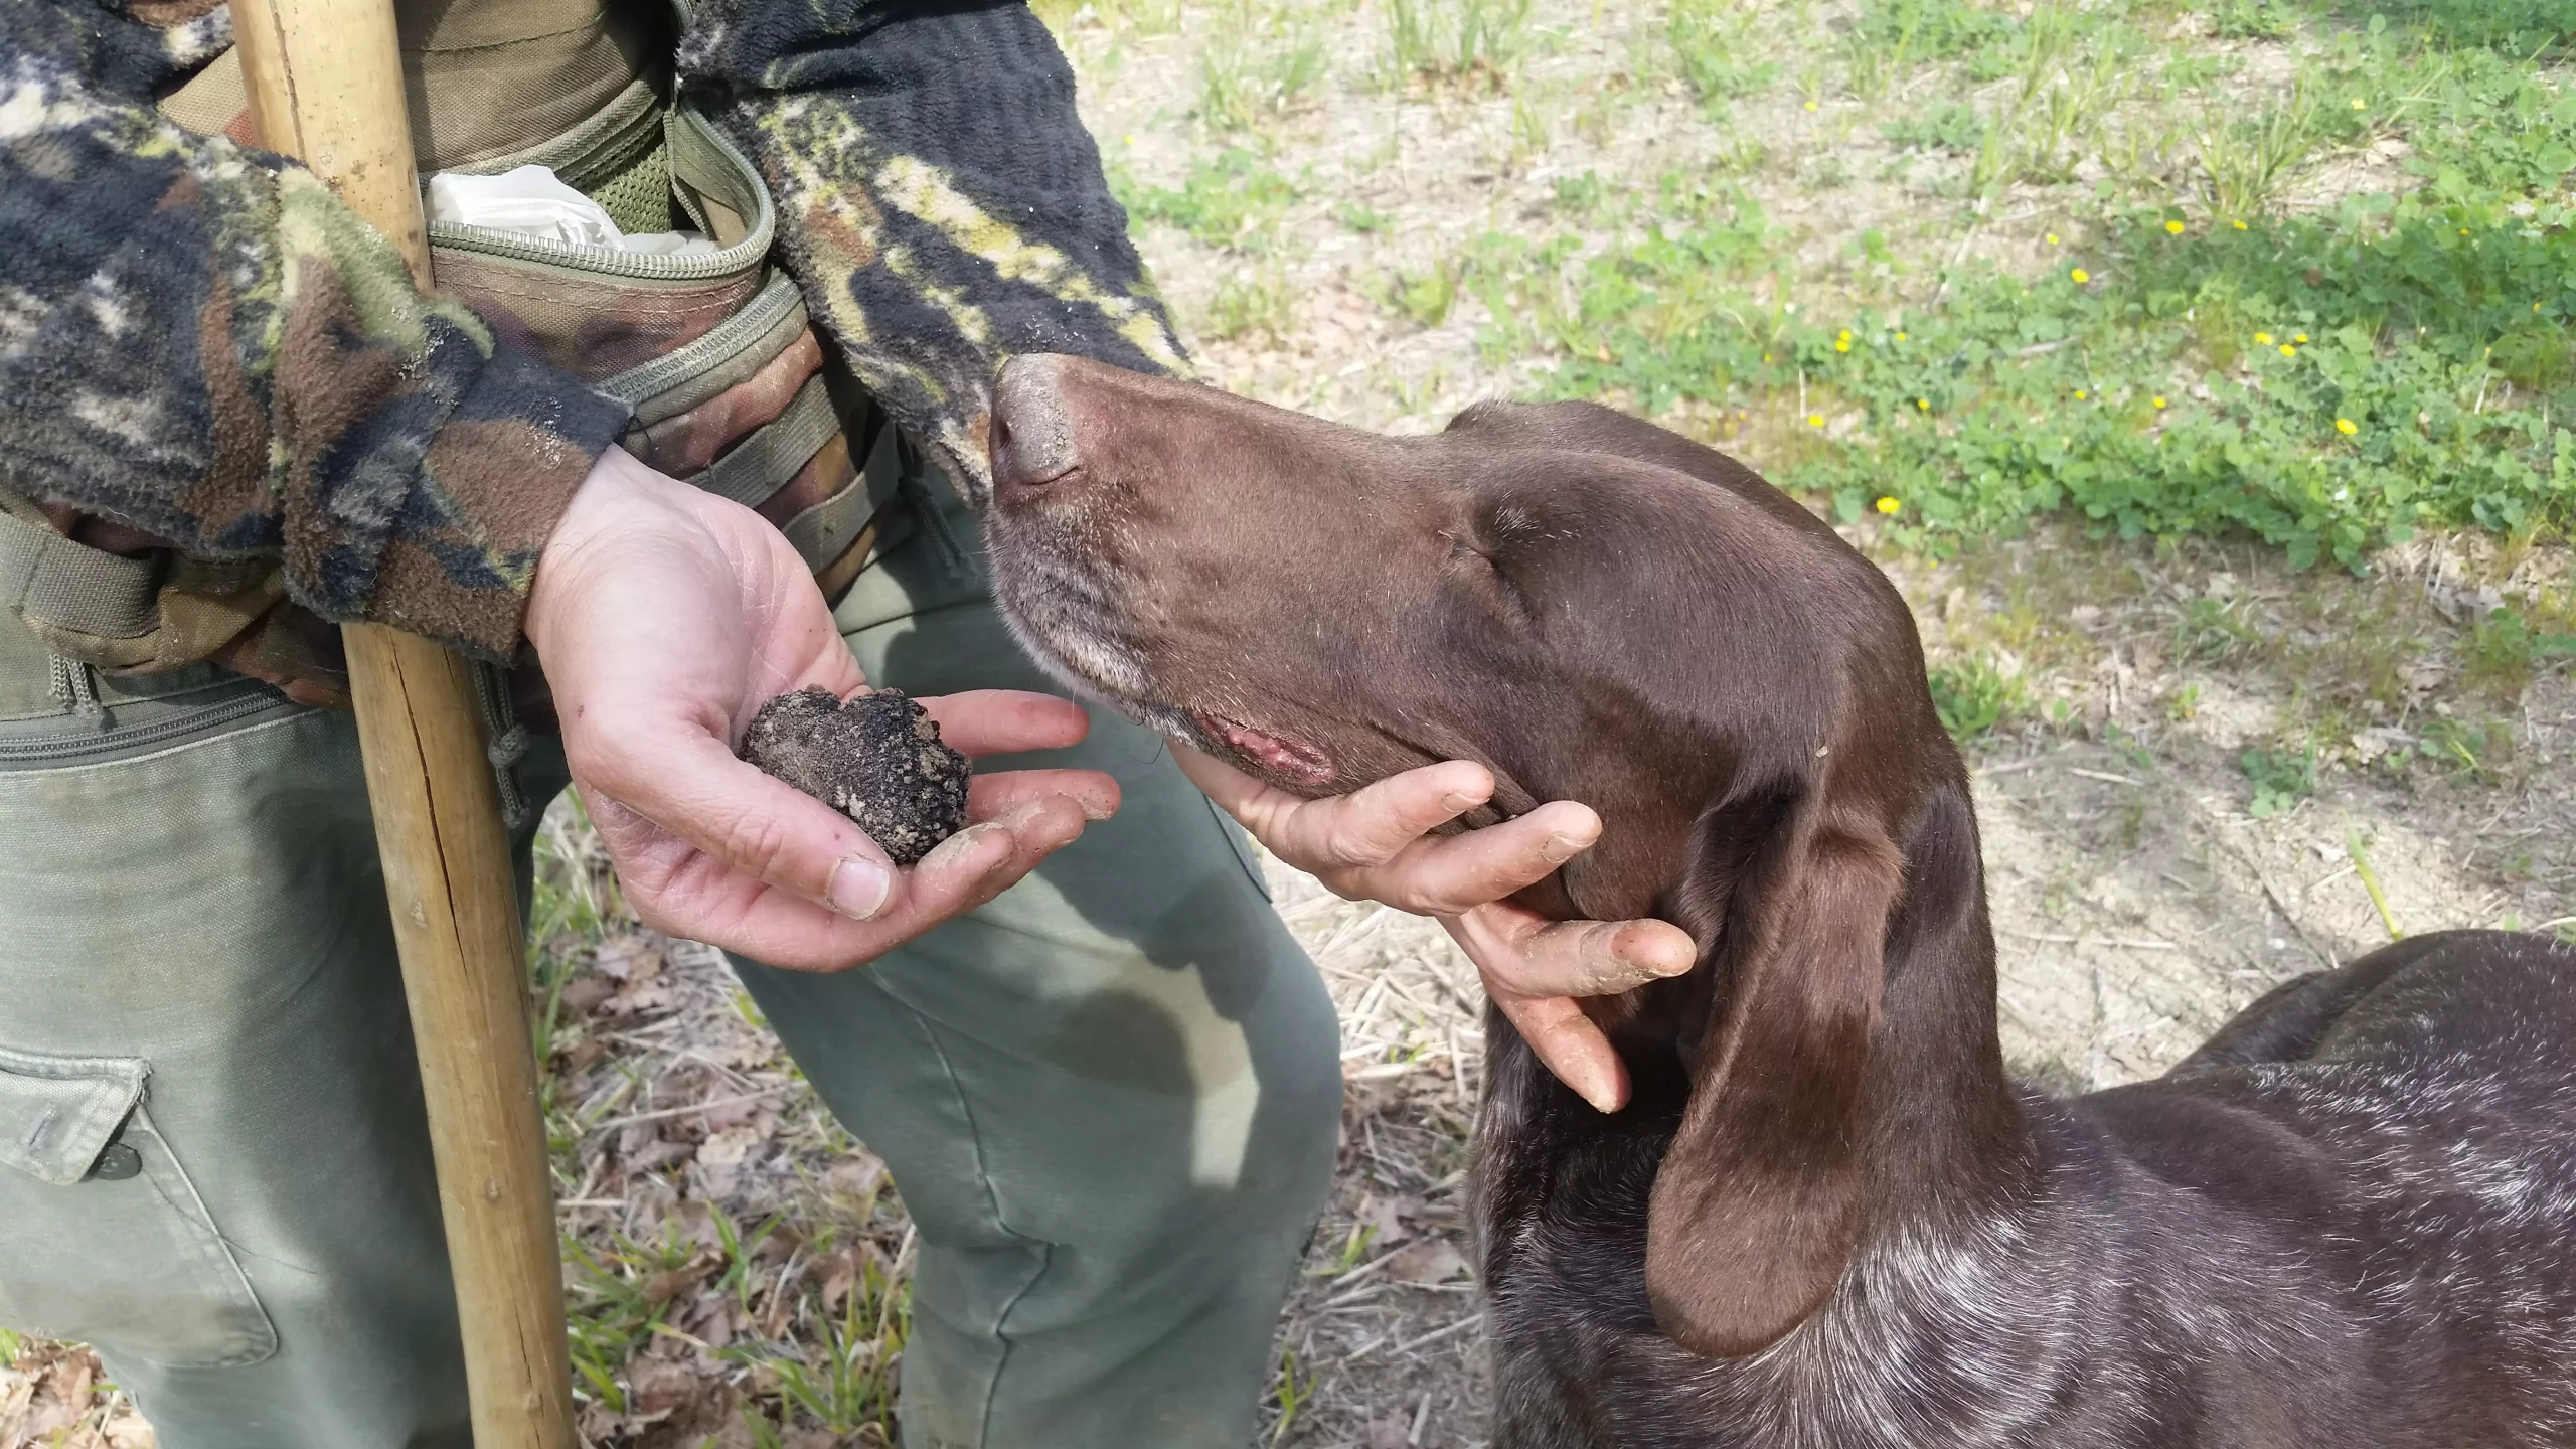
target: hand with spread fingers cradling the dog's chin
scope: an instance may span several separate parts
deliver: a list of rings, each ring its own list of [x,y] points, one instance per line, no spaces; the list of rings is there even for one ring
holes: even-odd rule
[[[1628,1104],[1628,1067],[1574,998],[1687,972],[1698,957],[1690,933],[1664,920],[1548,920],[1504,900],[1600,841],[1592,807],[1558,799],[1432,838],[1427,830],[1492,799],[1492,771],[1448,761],[1352,794],[1298,799],[1198,750],[1175,745],[1172,755],[1278,859],[1350,900],[1437,918],[1561,1083],[1600,1111]]]

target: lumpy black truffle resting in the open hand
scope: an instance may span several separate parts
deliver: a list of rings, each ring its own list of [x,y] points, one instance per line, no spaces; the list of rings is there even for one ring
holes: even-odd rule
[[[781,694],[742,732],[742,758],[855,820],[899,866],[966,828],[974,766],[902,691]]]

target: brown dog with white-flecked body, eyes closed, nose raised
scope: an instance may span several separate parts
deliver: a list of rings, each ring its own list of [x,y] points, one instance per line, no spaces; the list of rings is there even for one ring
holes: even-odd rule
[[[1914,621],[1744,467],[1079,358],[1015,358],[992,443],[1002,608],[1079,688],[1303,794],[1473,758],[1504,815],[1582,799],[1602,843],[1522,900],[1700,941],[1587,1006],[1615,1116],[1486,1018],[1497,1446],[2576,1444],[2568,951],[2409,941],[2050,1101]]]

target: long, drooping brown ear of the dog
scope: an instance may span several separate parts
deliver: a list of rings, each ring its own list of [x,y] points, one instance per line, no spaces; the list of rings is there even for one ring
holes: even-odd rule
[[[1801,802],[1741,869],[1708,859],[1708,962],[1726,975],[1690,1106],[1654,1181],[1646,1297],[1708,1356],[1752,1354],[1816,1312],[1868,1212],[1862,1088],[1904,856],[1870,822]],[[1723,856],[1723,848],[1718,848]]]

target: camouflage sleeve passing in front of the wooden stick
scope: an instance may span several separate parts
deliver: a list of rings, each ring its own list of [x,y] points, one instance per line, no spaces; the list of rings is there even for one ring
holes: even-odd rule
[[[417,291],[312,173],[162,121],[229,23],[155,8],[0,0],[0,487],[510,652],[626,410]]]

